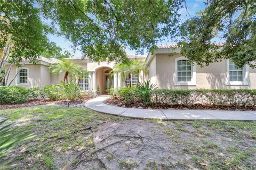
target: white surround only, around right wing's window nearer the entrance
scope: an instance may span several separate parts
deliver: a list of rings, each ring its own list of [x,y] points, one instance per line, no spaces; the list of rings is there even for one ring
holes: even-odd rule
[[[191,81],[178,81],[178,61],[180,60],[188,60],[188,58],[177,57],[174,59],[175,86],[196,86],[196,64],[191,64]]]

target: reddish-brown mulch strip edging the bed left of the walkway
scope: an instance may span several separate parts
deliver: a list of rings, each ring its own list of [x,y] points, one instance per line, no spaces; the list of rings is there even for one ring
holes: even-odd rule
[[[83,97],[78,100],[58,100],[58,101],[53,101],[50,99],[42,99],[42,100],[30,100],[26,101],[26,103],[23,104],[0,104],[0,110],[1,109],[12,109],[12,108],[20,108],[20,107],[33,107],[33,106],[38,106],[38,105],[77,105],[84,103],[85,101],[89,100],[91,97]]]

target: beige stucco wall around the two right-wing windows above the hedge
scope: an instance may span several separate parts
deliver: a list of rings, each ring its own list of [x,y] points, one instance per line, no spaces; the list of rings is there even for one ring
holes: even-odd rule
[[[228,86],[226,60],[196,66],[196,86],[175,86],[174,59],[180,54],[156,54],[156,81],[159,89],[256,89],[256,69],[249,70],[249,86]]]

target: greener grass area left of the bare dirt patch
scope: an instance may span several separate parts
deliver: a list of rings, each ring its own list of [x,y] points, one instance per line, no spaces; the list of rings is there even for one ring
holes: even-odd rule
[[[102,116],[97,112],[89,112],[86,108],[51,106],[0,110],[0,116],[14,121],[14,125],[20,124],[21,131],[30,130],[37,134],[34,139],[21,146],[26,152],[14,157],[14,160],[36,169],[59,169],[55,164],[58,155],[62,155],[63,162],[68,162],[66,153],[78,152],[94,145],[90,130],[80,129],[95,126],[98,121],[115,120],[111,115]]]

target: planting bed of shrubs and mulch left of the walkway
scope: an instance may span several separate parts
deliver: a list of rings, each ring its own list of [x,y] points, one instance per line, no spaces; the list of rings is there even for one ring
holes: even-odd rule
[[[27,89],[20,86],[0,87],[0,109],[45,104],[76,105],[84,103],[91,97],[73,82],[61,85],[52,84],[52,86],[45,86],[44,89],[39,87]]]

